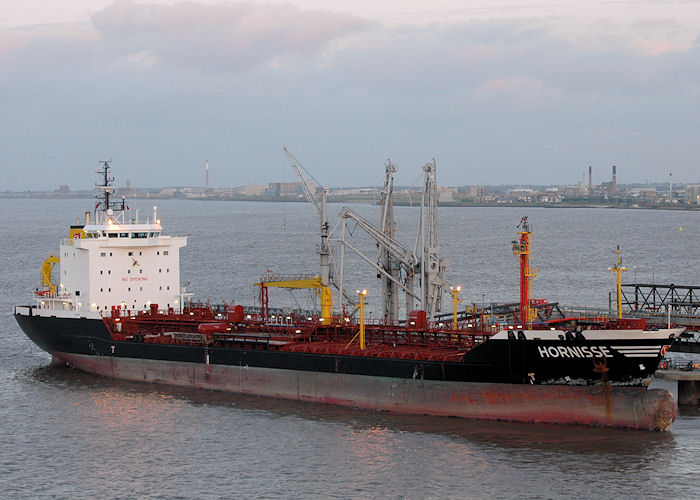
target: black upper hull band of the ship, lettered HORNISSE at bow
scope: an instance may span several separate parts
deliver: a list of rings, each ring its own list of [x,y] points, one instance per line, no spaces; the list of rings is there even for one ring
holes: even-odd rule
[[[115,342],[99,319],[62,318],[15,313],[27,336],[39,347],[61,353],[159,360],[211,366],[249,366],[280,370],[368,375],[395,379],[492,384],[646,387],[661,359],[660,352],[629,357],[621,346],[655,345],[668,339],[518,340],[490,339],[469,351],[461,362],[371,358],[276,350]],[[611,344],[616,348],[611,348]],[[552,348],[554,350],[552,350]],[[559,354],[554,357],[549,353]],[[604,351],[601,351],[604,349]],[[594,354],[606,354],[596,356]]]

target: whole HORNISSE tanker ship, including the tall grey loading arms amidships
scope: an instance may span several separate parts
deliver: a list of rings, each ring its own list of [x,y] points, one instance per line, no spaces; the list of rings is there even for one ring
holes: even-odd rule
[[[387,166],[385,223],[376,233],[385,243],[378,264],[383,289],[394,300],[385,301],[383,319],[373,322],[364,318],[365,291],[356,292],[352,302],[359,304],[333,308],[325,197],[320,275],[267,274],[257,283],[259,306],[214,306],[195,302],[181,287],[186,237],[165,235],[156,207],[142,221],[123,197],[113,201],[109,170],[104,162],[97,171],[95,209],[70,227],[58,256],[44,262],[33,303],[14,307],[22,330],[56,363],[125,380],[436,416],[661,431],[676,416],[673,396],[648,385],[683,329],[647,329],[643,319],[539,321],[528,295],[536,270],[529,265],[525,218],[513,242],[521,303],[512,321],[495,322],[476,308],[458,317],[459,288],[451,290],[454,314],[438,314],[442,290],[434,292],[444,284],[444,261],[430,253],[437,247],[430,233],[434,163],[424,185],[424,250],[401,259],[405,249],[390,236],[395,170]],[[421,281],[420,293],[405,290],[407,304],[418,299],[423,307],[398,318],[394,292],[408,280],[395,280],[396,270],[407,263]],[[274,286],[314,290],[320,311],[270,308],[267,292]],[[342,285],[337,295],[347,297]]]

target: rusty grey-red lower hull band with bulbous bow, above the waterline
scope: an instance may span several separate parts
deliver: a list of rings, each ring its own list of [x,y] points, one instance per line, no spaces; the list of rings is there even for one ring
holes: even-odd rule
[[[53,354],[78,369],[125,380],[398,413],[666,431],[677,412],[669,392],[641,387],[441,382],[229,365],[208,370],[198,363]]]

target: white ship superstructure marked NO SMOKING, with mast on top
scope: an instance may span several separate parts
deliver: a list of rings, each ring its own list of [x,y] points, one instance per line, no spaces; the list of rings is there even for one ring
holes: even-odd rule
[[[56,293],[37,299],[40,309],[96,316],[122,310],[182,308],[180,289],[180,248],[187,237],[162,234],[156,207],[151,219],[140,221],[138,210],[131,211],[109,202],[106,166],[105,184],[97,187],[105,196],[90,221],[72,226],[70,238],[61,242],[60,267],[52,281]],[[99,210],[98,210],[99,209]]]

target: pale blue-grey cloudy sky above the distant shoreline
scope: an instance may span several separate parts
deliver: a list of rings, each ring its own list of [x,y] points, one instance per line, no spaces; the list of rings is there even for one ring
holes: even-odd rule
[[[0,110],[0,191],[700,183],[700,2],[0,0]]]

